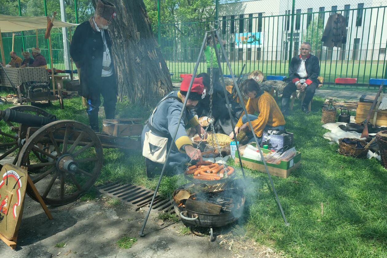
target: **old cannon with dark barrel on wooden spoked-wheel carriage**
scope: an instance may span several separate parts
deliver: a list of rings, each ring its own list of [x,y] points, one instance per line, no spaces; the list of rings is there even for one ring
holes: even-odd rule
[[[133,138],[96,133],[74,120],[57,118],[33,106],[0,110],[0,161],[12,156],[23,166],[46,205],[64,205],[77,200],[98,178],[103,165],[103,148],[139,149]],[[36,200],[31,189],[27,194]]]

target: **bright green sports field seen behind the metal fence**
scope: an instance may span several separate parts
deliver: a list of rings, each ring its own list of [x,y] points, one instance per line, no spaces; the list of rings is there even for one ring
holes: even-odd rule
[[[383,61],[378,63],[375,61],[372,63],[346,63],[344,60],[343,64],[341,61],[321,62],[320,64],[320,75],[325,78],[326,82],[334,82],[336,78],[358,78],[358,83],[368,83],[368,80],[371,78],[384,78],[384,69],[383,69]],[[175,80],[181,80],[180,73],[192,73],[194,72],[195,63],[193,62],[174,62],[170,60],[166,60],[166,64],[171,73],[174,75],[171,77]],[[286,75],[288,76],[288,63],[279,63],[275,61],[266,61],[262,63],[262,60],[252,60],[251,63],[249,61],[231,61],[230,65],[233,69],[234,74],[239,75],[243,65],[246,64],[245,70],[243,73],[250,73],[254,70],[260,70],[264,73],[264,75]],[[224,74],[230,74],[226,63],[221,63]],[[198,67],[198,72],[207,72],[207,66],[205,62],[200,63]]]

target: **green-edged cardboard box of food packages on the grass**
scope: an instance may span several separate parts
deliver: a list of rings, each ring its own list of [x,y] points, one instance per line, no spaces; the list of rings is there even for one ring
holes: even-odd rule
[[[263,153],[268,153],[270,150],[262,149]],[[242,164],[246,167],[260,171],[262,173],[266,173],[266,169],[264,166],[264,162],[262,161],[256,161],[254,159],[247,159],[245,157],[241,157]],[[239,163],[239,153],[235,152],[235,162]],[[281,161],[281,163],[277,164],[271,164],[266,163],[267,168],[269,169],[269,173],[274,176],[280,176],[281,178],[287,178],[289,177],[290,173],[297,169],[300,166],[301,162],[301,152],[297,152],[297,155],[295,155],[290,161]]]

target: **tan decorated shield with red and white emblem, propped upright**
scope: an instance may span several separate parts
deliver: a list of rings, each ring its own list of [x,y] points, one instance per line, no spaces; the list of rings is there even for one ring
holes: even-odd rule
[[[5,164],[0,176],[0,234],[11,240],[21,221],[27,172],[20,167]]]

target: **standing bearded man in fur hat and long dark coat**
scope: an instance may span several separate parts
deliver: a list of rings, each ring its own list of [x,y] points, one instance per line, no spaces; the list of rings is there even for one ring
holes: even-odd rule
[[[70,55],[80,69],[80,94],[87,99],[89,124],[95,132],[99,132],[101,94],[106,118],[113,119],[116,112],[118,86],[108,33],[115,16],[115,6],[99,0],[94,16],[75,29],[70,46]]]

